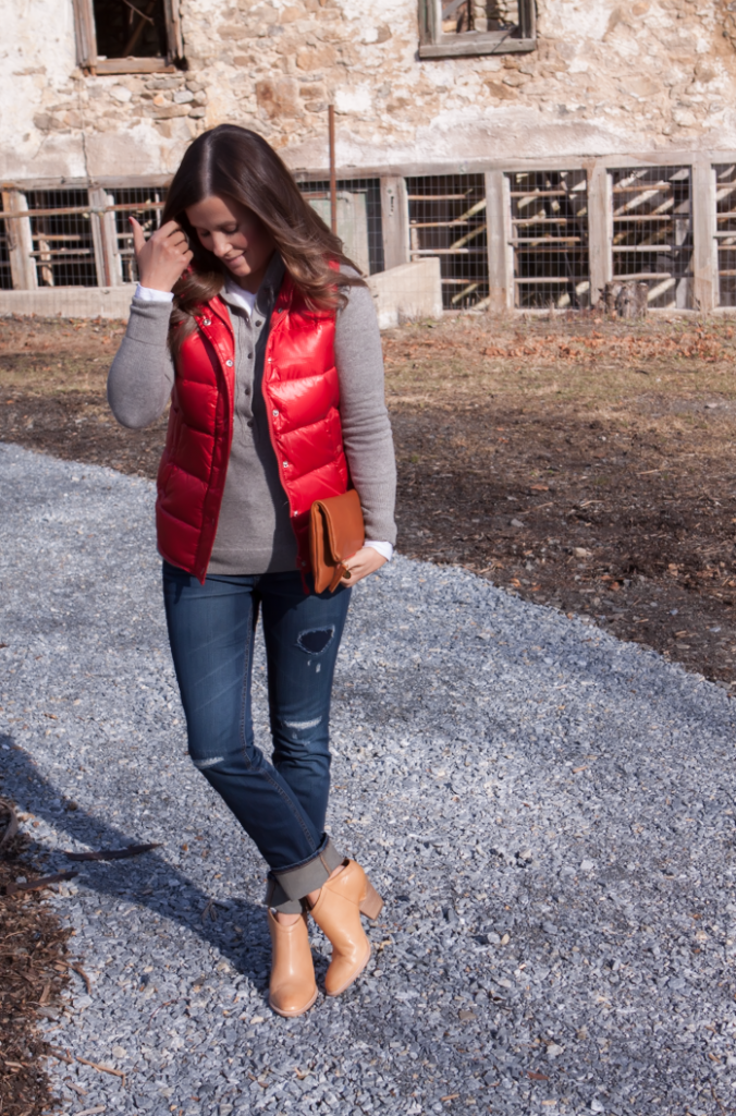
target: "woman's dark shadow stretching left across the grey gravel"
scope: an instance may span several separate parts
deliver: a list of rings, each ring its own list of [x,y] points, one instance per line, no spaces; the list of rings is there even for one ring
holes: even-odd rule
[[[6,748],[10,749],[10,753],[4,751]],[[39,772],[32,757],[14,743],[12,737],[0,734],[0,749],[3,749],[3,793],[16,801],[32,801],[35,819],[64,830],[69,838],[70,852],[79,852],[75,847],[77,843],[90,849],[125,848],[137,843],[135,834],[124,833],[104,819],[104,802],[99,804],[99,815],[94,815],[61,796]],[[32,799],[28,792],[29,782],[33,785]],[[113,804],[108,805],[112,808]],[[76,864],[64,855],[64,848],[50,849],[47,844],[35,841],[33,825],[31,822],[23,827],[30,838],[28,856],[31,859],[37,855],[43,857],[47,865],[45,874],[64,869],[78,870],[76,884],[100,896],[108,895],[136,903],[180,923],[190,933],[214,946],[255,988],[263,993],[268,992],[271,943],[261,905],[248,899],[212,899],[212,896],[196,887],[184,873],[155,852],[137,857],[135,862]],[[157,878],[163,873],[167,877],[164,886]],[[74,896],[69,896],[69,902],[74,903]],[[326,964],[319,958],[316,958],[316,964],[320,960]],[[145,984],[145,980],[143,983]]]

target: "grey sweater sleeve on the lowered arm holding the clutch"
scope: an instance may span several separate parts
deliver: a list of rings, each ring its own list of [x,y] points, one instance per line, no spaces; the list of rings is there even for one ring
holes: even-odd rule
[[[395,543],[396,459],[378,319],[366,287],[345,291],[348,305],[338,314],[335,329],[345,452],[362,504],[366,538]]]

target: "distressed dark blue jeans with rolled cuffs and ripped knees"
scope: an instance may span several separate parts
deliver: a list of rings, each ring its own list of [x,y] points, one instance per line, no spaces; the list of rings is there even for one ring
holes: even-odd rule
[[[335,663],[350,589],[306,594],[301,574],[207,577],[164,562],[164,604],[190,756],[269,864],[284,912],[342,858],[325,833]],[[273,756],[253,737],[251,677],[262,616]]]

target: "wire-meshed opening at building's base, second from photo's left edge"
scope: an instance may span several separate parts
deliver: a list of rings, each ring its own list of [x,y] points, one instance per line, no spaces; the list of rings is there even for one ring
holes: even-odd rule
[[[97,286],[87,191],[31,190],[26,196],[39,287]]]

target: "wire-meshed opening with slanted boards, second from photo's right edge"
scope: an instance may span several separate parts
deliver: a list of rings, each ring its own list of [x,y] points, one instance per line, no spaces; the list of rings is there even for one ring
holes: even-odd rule
[[[649,287],[649,306],[693,306],[690,169],[647,166],[611,172],[613,278]]]

